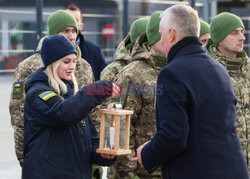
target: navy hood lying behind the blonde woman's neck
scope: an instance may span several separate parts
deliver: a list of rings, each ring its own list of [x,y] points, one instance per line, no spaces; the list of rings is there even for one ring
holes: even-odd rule
[[[43,71],[44,68],[38,68],[35,72],[33,72],[27,79],[25,83],[25,92],[27,93],[31,86],[33,86],[36,83],[41,84],[47,84],[48,82],[48,76]]]

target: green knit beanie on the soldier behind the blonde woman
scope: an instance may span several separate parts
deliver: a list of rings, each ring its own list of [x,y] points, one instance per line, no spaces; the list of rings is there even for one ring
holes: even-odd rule
[[[75,27],[78,32],[78,24],[73,15],[65,10],[57,10],[48,18],[48,34],[49,36],[58,34],[66,27]]]

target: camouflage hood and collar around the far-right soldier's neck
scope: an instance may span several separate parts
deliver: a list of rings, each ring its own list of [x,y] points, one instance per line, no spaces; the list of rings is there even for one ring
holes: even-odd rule
[[[248,65],[248,56],[243,50],[242,53],[237,54],[237,57],[227,57],[219,52],[217,47],[213,44],[212,39],[208,39],[204,46],[206,52],[216,61],[220,62],[227,70],[246,70]]]

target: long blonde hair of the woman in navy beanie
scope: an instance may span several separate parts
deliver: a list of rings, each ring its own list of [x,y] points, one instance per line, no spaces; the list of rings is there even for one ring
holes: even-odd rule
[[[49,85],[53,88],[53,90],[59,95],[64,95],[67,93],[68,90],[66,84],[60,79],[60,77],[57,74],[57,69],[60,63],[61,59],[49,64],[45,69],[45,73],[48,75]],[[71,76],[71,82],[74,85],[74,94],[75,94],[78,91],[78,85],[74,73]]]

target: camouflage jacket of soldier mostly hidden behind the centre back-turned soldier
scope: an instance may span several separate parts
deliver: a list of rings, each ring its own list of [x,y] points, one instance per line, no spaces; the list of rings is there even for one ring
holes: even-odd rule
[[[130,44],[130,37],[127,35],[127,37],[121,41],[115,52],[114,62],[106,66],[101,72],[101,80],[113,81],[123,67],[131,62],[130,53],[132,47],[133,46]]]

